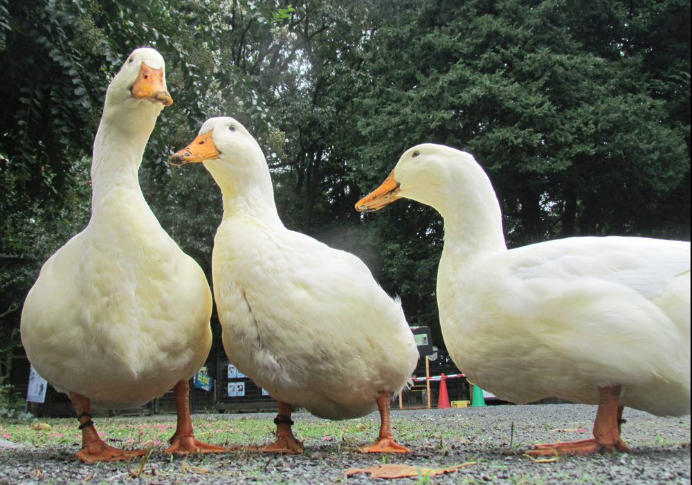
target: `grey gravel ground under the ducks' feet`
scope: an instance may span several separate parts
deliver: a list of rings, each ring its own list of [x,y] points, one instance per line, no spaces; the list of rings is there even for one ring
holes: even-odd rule
[[[522,456],[532,443],[573,441],[591,436],[595,407],[576,404],[501,405],[446,410],[392,412],[394,438],[411,452],[406,455],[364,455],[349,429],[365,429],[374,438],[379,415],[345,421],[342,437],[307,439],[303,455],[260,455],[248,452],[224,455],[167,457],[155,452],[143,473],[132,477],[124,463],[81,464],[75,448],[36,448],[0,444],[0,485],[5,484],[689,484],[690,417],[659,418],[626,410],[623,439],[628,454],[561,457],[537,462]],[[219,426],[247,417],[274,414],[214,414],[204,418]],[[153,419],[168,419],[154,417]],[[147,417],[128,418],[133,421]],[[170,417],[174,419],[174,417]],[[293,414],[294,431],[301,439],[301,423],[317,419]],[[513,433],[511,432],[513,427]],[[221,444],[221,443],[219,443]],[[257,443],[247,443],[257,444]],[[345,476],[351,467],[402,464],[428,468],[463,466],[432,477],[372,478],[365,473]],[[134,468],[134,465],[131,466]],[[429,480],[429,481],[428,481]]]

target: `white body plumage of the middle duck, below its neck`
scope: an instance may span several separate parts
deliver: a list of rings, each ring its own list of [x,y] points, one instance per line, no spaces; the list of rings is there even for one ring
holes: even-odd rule
[[[275,399],[354,418],[410,378],[418,356],[401,306],[355,256],[237,215],[213,262],[226,353]]]

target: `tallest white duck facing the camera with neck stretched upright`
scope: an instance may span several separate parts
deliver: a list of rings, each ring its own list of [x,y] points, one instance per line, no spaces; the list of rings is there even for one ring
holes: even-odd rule
[[[167,452],[225,449],[194,439],[188,406],[188,379],[211,346],[211,292],[159,225],[137,176],[156,118],[172,102],[161,55],[131,53],[108,87],[94,141],[89,226],[44,264],[21,313],[30,362],[78,414],[82,461],[142,453],[104,443],[92,403],[140,405],[171,388],[178,427]]]

